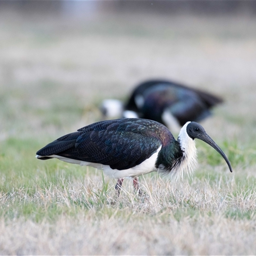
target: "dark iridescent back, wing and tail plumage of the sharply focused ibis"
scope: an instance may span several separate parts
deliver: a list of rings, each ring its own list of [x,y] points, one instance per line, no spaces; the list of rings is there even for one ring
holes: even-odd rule
[[[164,125],[147,119],[124,118],[85,126],[54,140],[36,154],[42,160],[58,155],[125,170],[172,142],[177,141]]]

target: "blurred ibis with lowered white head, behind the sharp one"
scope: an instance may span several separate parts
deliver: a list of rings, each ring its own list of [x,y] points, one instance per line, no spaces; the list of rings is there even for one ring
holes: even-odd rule
[[[199,122],[211,115],[210,108],[222,99],[210,93],[166,80],[149,80],[136,86],[126,104],[104,100],[107,118],[140,117],[155,120],[171,131],[188,121]]]

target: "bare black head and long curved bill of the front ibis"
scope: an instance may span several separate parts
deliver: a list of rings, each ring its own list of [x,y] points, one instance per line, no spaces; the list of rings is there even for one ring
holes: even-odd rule
[[[220,149],[220,147],[212,140],[212,138],[205,132],[202,125],[196,122],[190,122],[187,125],[187,133],[191,139],[203,140],[204,142],[212,146],[212,148],[217,150],[220,153],[220,155],[225,159],[226,163],[228,164],[228,168],[230,172],[232,172],[232,167],[228,161],[228,157],[224,154],[224,152]]]

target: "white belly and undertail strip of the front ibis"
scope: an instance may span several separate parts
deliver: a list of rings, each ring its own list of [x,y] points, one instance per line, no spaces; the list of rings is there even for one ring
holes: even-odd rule
[[[157,149],[156,153],[154,153],[152,156],[150,156],[148,159],[146,159],[141,164],[136,165],[136,166],[126,169],[126,170],[111,169],[108,165],[85,162],[85,161],[70,159],[70,158],[67,158],[64,156],[58,156],[58,155],[51,155],[51,156],[47,156],[47,157],[58,158],[61,161],[68,162],[71,164],[87,165],[87,166],[92,166],[97,169],[102,169],[106,175],[108,175],[112,178],[115,178],[115,179],[119,179],[119,178],[124,178],[124,177],[140,176],[142,174],[146,174],[149,172],[156,172],[157,169],[155,167],[155,163],[156,163],[156,159],[157,159],[158,152],[160,151],[160,149],[161,149],[161,147],[159,147]],[[36,157],[40,158],[41,156],[36,156]]]

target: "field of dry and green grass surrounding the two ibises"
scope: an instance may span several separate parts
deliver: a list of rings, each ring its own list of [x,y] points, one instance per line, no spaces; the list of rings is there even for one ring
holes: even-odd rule
[[[0,15],[0,254],[248,255],[256,252],[256,19]],[[222,96],[202,125],[193,178],[125,180],[59,160],[48,142],[100,120],[104,98],[166,78]],[[175,134],[177,136],[177,134]]]

